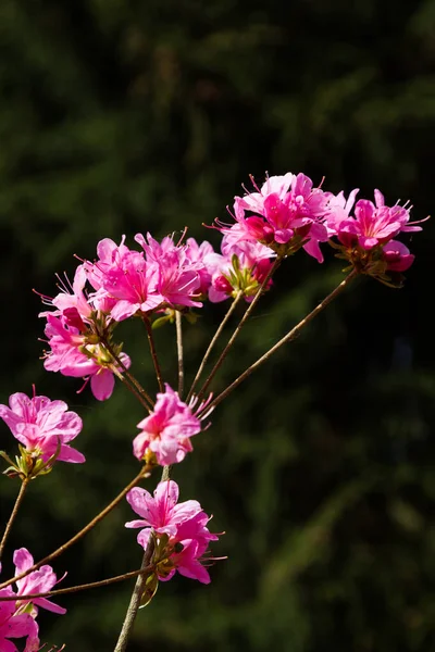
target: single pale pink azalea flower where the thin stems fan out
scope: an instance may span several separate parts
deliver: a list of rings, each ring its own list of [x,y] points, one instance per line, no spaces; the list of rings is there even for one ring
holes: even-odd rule
[[[208,401],[197,408],[199,413]],[[154,454],[158,464],[170,465],[182,462],[192,450],[190,437],[201,430],[201,419],[184,403],[176,391],[165,384],[165,392],[157,394],[153,412],[137,427],[141,432],[133,442],[133,451],[138,460]]]

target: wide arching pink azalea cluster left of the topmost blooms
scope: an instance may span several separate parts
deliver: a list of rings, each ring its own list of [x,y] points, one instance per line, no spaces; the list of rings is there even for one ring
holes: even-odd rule
[[[237,246],[224,241],[222,254],[194,238],[159,243],[149,234],[135,236],[141,251],[104,239],[95,262],[80,264],[72,284],[62,283],[54,298],[42,296],[54,311],[45,311],[45,335],[50,350],[45,367],[64,376],[90,380],[94,396],[102,401],[112,394],[114,376],[130,366],[121,344],[113,343],[117,323],[133,316],[173,314],[201,308],[209,297],[216,302],[241,291],[249,301],[270,269],[273,256],[256,242]],[[88,284],[87,288],[85,287]]]

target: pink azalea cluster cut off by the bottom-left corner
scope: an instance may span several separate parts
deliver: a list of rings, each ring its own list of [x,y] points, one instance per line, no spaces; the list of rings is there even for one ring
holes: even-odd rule
[[[34,565],[32,554],[25,548],[15,550],[13,555],[15,577],[25,573]],[[1,569],[1,565],[0,565]],[[63,578],[62,578],[63,579]],[[38,624],[36,617],[38,607],[47,609],[55,614],[65,614],[66,610],[47,598],[32,598],[26,595],[46,593],[51,591],[58,580],[51,566],[41,566],[16,580],[16,592],[12,587],[0,589],[0,650],[1,652],[17,652],[11,639],[26,638],[24,652],[39,650]],[[1,598],[16,598],[16,600],[1,600]]]

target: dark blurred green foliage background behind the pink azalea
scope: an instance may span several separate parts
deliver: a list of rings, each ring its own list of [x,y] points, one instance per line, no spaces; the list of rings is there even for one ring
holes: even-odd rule
[[[102,237],[163,237],[211,224],[253,174],[303,171],[334,192],[377,187],[433,206],[435,4],[386,0],[2,0],[0,227],[2,376],[63,398],[84,418],[86,465],[30,487],[10,539],[40,559],[137,472],[142,418],[123,387],[100,404],[44,372],[38,297]],[[161,585],[128,650],[435,650],[434,226],[411,248],[402,290],[371,279],[341,296],[213,415],[174,471],[182,499],[214,514],[228,555],[212,584]],[[325,249],[325,248],[324,248]],[[220,390],[340,278],[332,251],[283,265],[240,337]],[[224,306],[185,327],[194,373]],[[120,327],[156,391],[138,324]],[[157,334],[167,379],[172,328]],[[172,380],[174,381],[174,380]],[[1,424],[1,448],[14,442]],[[153,480],[151,485],[153,484]],[[1,480],[3,521],[16,481]],[[60,557],[78,584],[139,566],[127,504]],[[8,555],[7,555],[8,556]],[[5,559],[3,577],[11,570]],[[133,582],[65,597],[42,640],[112,650]]]

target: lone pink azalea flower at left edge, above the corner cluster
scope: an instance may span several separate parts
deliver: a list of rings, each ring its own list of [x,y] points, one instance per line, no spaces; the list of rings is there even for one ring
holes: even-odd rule
[[[57,460],[85,462],[85,456],[69,446],[82,430],[82,419],[75,412],[67,412],[63,401],[50,401],[47,397],[14,393],[9,408],[0,405],[0,417],[12,435],[33,456],[47,462],[60,444]]]

